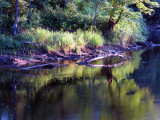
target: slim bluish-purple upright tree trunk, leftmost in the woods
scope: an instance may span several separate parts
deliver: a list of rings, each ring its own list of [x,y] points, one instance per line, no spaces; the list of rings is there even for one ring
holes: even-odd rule
[[[15,7],[15,21],[13,25],[14,35],[17,33],[18,27],[18,0],[16,0],[16,7]]]

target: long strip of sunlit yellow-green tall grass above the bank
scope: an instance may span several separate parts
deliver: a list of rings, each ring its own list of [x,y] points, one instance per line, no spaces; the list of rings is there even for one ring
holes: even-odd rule
[[[32,29],[20,34],[22,41],[39,43],[47,51],[71,52],[81,51],[84,47],[96,48],[104,43],[100,32],[82,31],[77,32],[53,32],[43,28]],[[32,48],[34,49],[34,48]]]

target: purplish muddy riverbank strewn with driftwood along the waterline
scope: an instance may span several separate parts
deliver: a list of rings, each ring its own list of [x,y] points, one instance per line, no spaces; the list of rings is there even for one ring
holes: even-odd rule
[[[118,45],[105,45],[96,49],[85,49],[81,54],[62,52],[51,52],[39,55],[0,55],[0,67],[15,69],[52,69],[63,65],[64,60],[80,61],[78,64],[85,64],[86,61],[102,59],[109,56],[130,57],[125,54],[126,51],[138,50],[157,46],[151,42],[137,42],[135,45],[122,47]]]

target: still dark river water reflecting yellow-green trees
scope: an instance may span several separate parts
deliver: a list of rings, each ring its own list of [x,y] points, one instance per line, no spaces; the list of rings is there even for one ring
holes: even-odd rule
[[[1,69],[0,119],[160,119],[160,48],[128,55],[117,68]]]

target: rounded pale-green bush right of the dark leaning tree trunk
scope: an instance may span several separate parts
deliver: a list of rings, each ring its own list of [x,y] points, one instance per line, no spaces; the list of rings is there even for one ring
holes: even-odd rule
[[[138,19],[123,17],[117,26],[115,26],[113,33],[110,35],[111,43],[127,44],[138,41],[146,41],[148,31],[145,21],[142,17]]]

